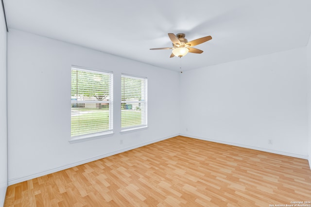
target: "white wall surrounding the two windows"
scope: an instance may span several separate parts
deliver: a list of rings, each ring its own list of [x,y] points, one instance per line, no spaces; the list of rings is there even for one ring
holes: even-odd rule
[[[68,142],[72,64],[113,71],[113,136]],[[148,78],[148,129],[120,133],[121,73]],[[174,71],[10,30],[7,81],[9,184],[179,133],[179,76]]]

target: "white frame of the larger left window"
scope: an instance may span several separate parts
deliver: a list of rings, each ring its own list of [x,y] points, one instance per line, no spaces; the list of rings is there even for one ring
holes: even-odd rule
[[[113,134],[113,72],[112,71],[106,71],[106,70],[99,70],[99,69],[94,69],[94,68],[89,68],[89,67],[83,67],[83,66],[76,66],[76,65],[71,65],[70,71],[72,70],[75,71],[85,71],[85,72],[90,72],[94,74],[105,74],[109,75],[109,100],[72,100],[71,99],[71,106],[70,110],[72,110],[72,103],[108,103],[109,108],[108,108],[108,129],[104,131],[99,131],[99,132],[92,132],[92,133],[87,133],[87,134],[82,134],[82,135],[75,135],[71,136],[71,114],[72,111],[70,112],[70,140],[69,143],[76,143],[76,142],[81,142],[81,141],[86,141],[86,140],[93,140],[93,139],[98,139],[101,137],[106,137],[106,136],[111,136]],[[70,75],[70,78],[72,79],[72,75]],[[72,87],[72,80],[70,82],[70,86]],[[70,95],[71,95],[71,87],[70,87]],[[71,96],[72,97],[72,96]]]

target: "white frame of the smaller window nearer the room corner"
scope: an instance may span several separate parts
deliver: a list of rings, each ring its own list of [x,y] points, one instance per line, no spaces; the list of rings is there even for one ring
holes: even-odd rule
[[[126,78],[133,78],[133,79],[140,79],[140,80],[144,80],[143,84],[144,84],[144,98],[143,100],[130,100],[130,101],[125,101],[122,100],[124,95],[122,94],[122,88],[124,87],[123,85],[123,80],[122,78],[126,77]],[[122,127],[122,104],[136,104],[136,103],[143,103],[144,104],[144,111],[143,111],[143,121],[144,123],[141,125],[135,125],[135,126],[130,126],[130,127]],[[124,132],[129,132],[129,131],[136,131],[136,130],[140,130],[140,129],[146,129],[148,128],[148,78],[147,77],[142,77],[142,76],[136,76],[136,75],[130,75],[130,74],[125,74],[125,73],[121,73],[121,133]]]

